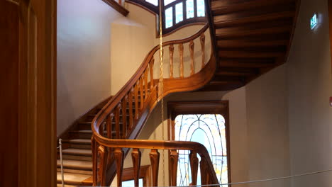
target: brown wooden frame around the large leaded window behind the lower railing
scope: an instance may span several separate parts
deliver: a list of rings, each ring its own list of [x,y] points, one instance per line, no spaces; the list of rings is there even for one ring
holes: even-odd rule
[[[175,140],[175,118],[186,114],[220,114],[225,118],[228,183],[231,183],[231,142],[229,128],[229,102],[223,101],[169,101],[167,102],[167,138]],[[168,152],[170,162],[170,151]],[[169,171],[169,176],[171,171]],[[169,179],[170,180],[170,179]],[[169,181],[170,182],[170,181]]]

